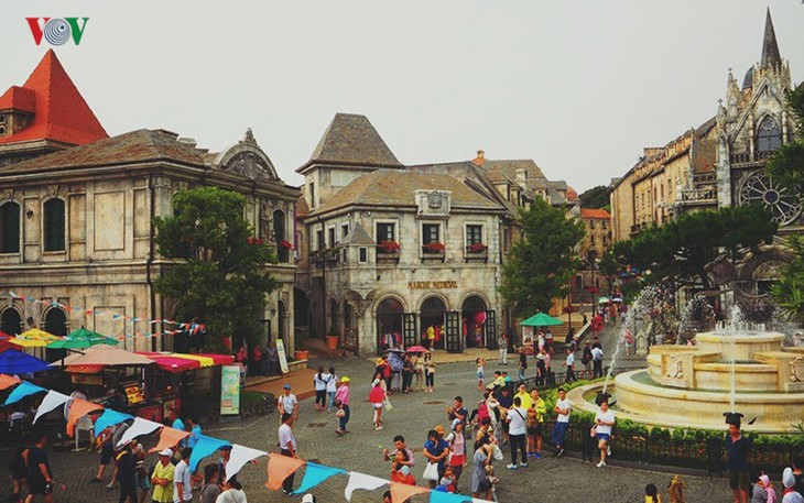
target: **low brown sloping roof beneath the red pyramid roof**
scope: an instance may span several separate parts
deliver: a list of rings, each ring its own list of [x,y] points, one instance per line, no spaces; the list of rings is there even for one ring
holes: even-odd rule
[[[95,143],[0,167],[0,176],[65,168],[113,166],[146,161],[205,165],[206,151],[180,142],[175,134],[141,129]]]

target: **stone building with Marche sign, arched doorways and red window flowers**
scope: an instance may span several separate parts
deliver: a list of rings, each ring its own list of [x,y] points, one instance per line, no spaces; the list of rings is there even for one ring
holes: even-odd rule
[[[438,347],[495,348],[515,320],[498,292],[501,263],[519,239],[515,215],[534,197],[565,201],[531,160],[405,166],[363,116],[338,113],[304,175],[296,313],[300,332],[339,336],[351,351],[389,338]],[[435,328],[437,327],[437,328]]]

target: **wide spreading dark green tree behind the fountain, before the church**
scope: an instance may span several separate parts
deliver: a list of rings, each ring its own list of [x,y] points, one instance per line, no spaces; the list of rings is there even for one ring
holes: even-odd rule
[[[759,205],[685,214],[631,241],[616,243],[601,261],[601,270],[618,274],[635,265],[651,270],[653,282],[670,280],[708,288],[705,267],[720,255],[721,249],[735,259],[743,248],[770,243],[776,228],[771,214]]]

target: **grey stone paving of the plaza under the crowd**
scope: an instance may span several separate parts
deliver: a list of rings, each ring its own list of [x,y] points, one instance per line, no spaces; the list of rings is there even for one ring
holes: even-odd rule
[[[607,345],[608,346],[608,345]],[[611,352],[609,352],[610,354]],[[489,352],[487,374],[496,369],[497,352]],[[436,361],[438,356],[436,354]],[[607,361],[608,363],[608,361]],[[369,380],[373,367],[370,362],[358,358],[338,360],[320,360],[312,364],[335,365],[340,375],[349,375],[352,383],[352,414],[349,433],[344,437],[335,434],[337,425],[334,414],[317,412],[313,400],[304,400],[301,404],[301,418],[294,426],[298,440],[298,452],[308,459],[327,466],[355,470],[377,477],[388,478],[390,463],[382,461],[382,447],[392,447],[394,435],[404,435],[408,445],[414,450],[416,467],[413,470],[421,480],[424,470],[424,457],[421,455],[426,433],[436,424],[447,426],[445,406],[456,395],[463,395],[466,406],[471,409],[480,397],[475,381],[472,362],[447,363],[438,365],[436,387],[433,394],[414,392],[395,393],[391,397],[393,411],[383,413],[384,428],[376,431],[371,424],[372,412],[368,404]],[[508,369],[512,368],[509,363]],[[529,375],[533,372],[529,368]],[[207,435],[225,438],[257,449],[278,451],[276,428],[279,418],[270,416],[243,419],[242,422],[221,423],[205,429]],[[617,467],[617,444],[613,446],[613,466],[598,469],[594,463],[582,462],[577,458],[563,457],[554,459],[550,455],[541,460],[531,460],[526,469],[509,471],[504,467],[509,462],[510,452],[504,449],[506,460],[495,463],[501,479],[498,500],[501,502],[640,502],[647,483],[655,483],[660,490],[666,488],[669,473],[650,470],[635,470]],[[0,446],[0,501],[6,501],[11,491],[11,480],[6,471],[11,450]],[[56,502],[112,502],[119,492],[107,491],[102,484],[90,484],[97,470],[99,455],[96,452],[54,452],[50,451],[51,466],[56,479]],[[150,457],[146,466],[155,462]],[[203,463],[202,463],[203,464]],[[469,482],[470,467],[467,467],[459,481],[459,490],[466,490]],[[301,497],[285,496],[279,491],[264,488],[265,460],[257,466],[246,466],[238,479],[252,502],[294,502]],[[107,478],[110,470],[107,470]],[[301,483],[303,471],[296,474],[296,486]],[[730,491],[725,479],[684,477],[687,483],[687,501],[692,502],[728,502]],[[336,475],[316,488],[314,493],[319,503],[344,502],[344,489],[347,477]],[[64,488],[64,489],[62,489]],[[385,488],[388,489],[388,488]],[[366,492],[357,491],[352,497],[355,503],[380,502],[385,489]],[[149,500],[150,501],[150,500]],[[196,501],[198,496],[196,495]],[[416,496],[413,503],[426,502],[427,496]]]

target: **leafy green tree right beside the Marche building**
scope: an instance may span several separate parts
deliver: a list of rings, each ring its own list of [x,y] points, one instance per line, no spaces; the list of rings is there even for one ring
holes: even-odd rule
[[[502,266],[500,292],[517,316],[547,311],[553,299],[565,295],[577,269],[576,247],[584,226],[567,219],[565,210],[536,198],[520,211],[523,238],[509,252]]]

